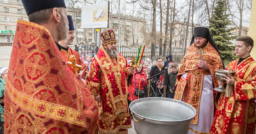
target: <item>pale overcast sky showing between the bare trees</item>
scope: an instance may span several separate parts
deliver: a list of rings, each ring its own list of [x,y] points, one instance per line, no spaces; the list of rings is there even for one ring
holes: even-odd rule
[[[81,0],[82,3],[83,0]],[[87,0],[89,1],[89,3],[100,3],[102,1],[106,1],[106,0]],[[113,13],[117,13],[118,12],[118,0],[111,0],[112,1],[112,11]],[[137,3],[131,3],[131,1],[133,0],[120,0],[121,1],[121,13],[122,14],[127,14],[127,15],[132,15],[133,10],[135,10],[135,16],[139,16],[140,18],[146,18],[147,23],[150,24],[151,22],[149,21],[152,18],[152,12],[150,11],[146,11],[146,16],[144,16],[143,14],[141,14],[142,12],[142,8],[140,6],[140,4],[142,3],[142,1],[146,1],[146,0],[139,0]],[[158,1],[159,2],[159,1]],[[187,16],[187,12],[188,12],[188,2],[189,0],[177,0],[176,2],[176,6],[177,8],[179,8],[179,12],[177,15],[177,19],[181,22],[184,21],[184,17]],[[165,0],[162,0],[162,3],[166,3]],[[238,10],[236,8],[236,5],[233,1],[232,3],[233,8],[231,9],[232,12],[234,13],[234,16],[239,16]],[[81,7],[81,5],[79,5],[79,7]],[[111,7],[111,6],[110,6]],[[211,7],[209,7],[211,8]],[[111,10],[111,9],[110,9]],[[202,24],[203,26],[207,26],[207,23],[202,23],[202,20],[200,20],[200,18],[202,16],[200,16],[200,12],[205,12],[206,15],[206,10],[200,10],[198,12],[195,12],[194,14],[194,24]],[[165,15],[163,14],[164,18]],[[243,26],[245,27],[249,27],[249,20],[250,20],[250,16],[251,16],[251,12],[250,10],[245,10],[244,11],[244,21],[243,21]],[[157,31],[160,31],[160,9],[157,7]],[[236,25],[239,25],[239,21],[236,20]]]

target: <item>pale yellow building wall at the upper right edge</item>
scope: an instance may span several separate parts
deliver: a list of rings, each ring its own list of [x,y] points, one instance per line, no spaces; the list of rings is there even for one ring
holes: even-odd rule
[[[253,5],[251,8],[251,20],[249,25],[249,37],[253,38],[254,46],[251,50],[251,56],[256,59],[256,0],[253,0]]]

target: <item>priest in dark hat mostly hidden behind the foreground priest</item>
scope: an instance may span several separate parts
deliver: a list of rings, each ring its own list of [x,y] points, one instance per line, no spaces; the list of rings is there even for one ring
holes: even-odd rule
[[[68,38],[64,39],[62,41],[59,41],[57,43],[58,49],[60,50],[60,54],[62,54],[62,57],[64,58],[64,61],[69,61],[70,56],[75,56],[76,63],[78,65],[81,65],[83,69],[85,69],[86,65],[83,63],[83,61],[79,58],[78,52],[73,50],[72,48],[68,47],[69,45],[72,45],[74,38],[75,38],[75,27],[72,20],[72,16],[68,15]]]

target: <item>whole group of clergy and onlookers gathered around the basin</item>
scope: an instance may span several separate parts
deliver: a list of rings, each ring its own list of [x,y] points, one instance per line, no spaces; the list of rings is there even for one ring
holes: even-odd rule
[[[223,59],[206,27],[194,28],[180,67],[169,54],[165,62],[146,59],[133,68],[118,52],[112,29],[100,34],[96,56],[82,61],[69,47],[75,27],[64,0],[22,3],[29,22],[18,20],[10,65],[0,69],[1,131],[128,133],[129,103],[162,97],[166,88],[168,98],[197,111],[188,133],[255,133],[256,62],[250,56],[251,37],[236,39],[238,59],[226,67],[235,73],[223,80],[215,77],[215,70],[224,67]],[[217,86],[226,87],[226,92],[215,92]]]

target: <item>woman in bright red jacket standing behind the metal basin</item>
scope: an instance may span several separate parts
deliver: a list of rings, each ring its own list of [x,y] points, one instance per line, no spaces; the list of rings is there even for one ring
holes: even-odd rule
[[[128,87],[129,101],[134,101],[134,100],[138,99],[138,95],[135,95],[136,88],[139,90],[142,90],[142,91],[144,91],[144,93],[146,93],[144,88],[147,86],[148,82],[146,81],[146,73],[145,73],[145,71],[143,71],[142,68],[143,68],[143,66],[140,65],[139,67],[137,67],[137,69],[133,73],[133,78],[131,79],[131,86]],[[146,94],[144,94],[144,96],[145,95]]]

